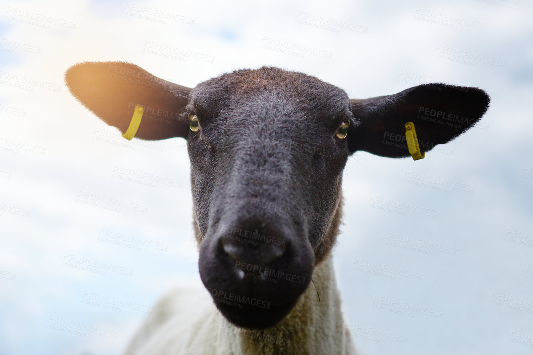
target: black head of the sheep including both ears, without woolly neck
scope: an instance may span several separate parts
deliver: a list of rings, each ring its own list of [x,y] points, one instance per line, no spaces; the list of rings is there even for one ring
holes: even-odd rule
[[[429,151],[489,104],[483,90],[443,84],[350,100],[315,77],[268,67],[189,89],[130,63],[80,63],[66,82],[123,133],[139,104],[136,137],[187,139],[200,276],[223,315],[247,328],[284,318],[332,249],[350,154],[409,156],[407,122]]]

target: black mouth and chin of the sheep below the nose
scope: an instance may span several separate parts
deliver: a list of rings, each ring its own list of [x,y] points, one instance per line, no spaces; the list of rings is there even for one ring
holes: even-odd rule
[[[235,302],[225,299],[215,299],[216,308],[230,323],[248,329],[264,329],[273,327],[284,319],[294,308],[298,298],[284,304],[246,298]]]

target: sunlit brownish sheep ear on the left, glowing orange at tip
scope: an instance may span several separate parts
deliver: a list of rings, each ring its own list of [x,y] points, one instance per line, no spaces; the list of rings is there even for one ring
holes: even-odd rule
[[[87,109],[122,133],[130,125],[136,105],[144,112],[135,137],[186,137],[188,120],[182,115],[190,88],[159,79],[125,62],[84,62],[69,68],[65,82]]]

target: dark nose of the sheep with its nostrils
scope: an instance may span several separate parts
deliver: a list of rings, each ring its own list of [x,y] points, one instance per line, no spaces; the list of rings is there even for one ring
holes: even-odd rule
[[[228,237],[222,237],[221,243],[224,252],[233,260],[262,265],[270,264],[281,258],[286,250],[285,243],[278,245],[268,242],[238,241]]]

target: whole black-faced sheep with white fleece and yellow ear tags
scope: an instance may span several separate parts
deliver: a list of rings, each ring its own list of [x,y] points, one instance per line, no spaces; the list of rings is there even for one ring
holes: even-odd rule
[[[126,62],[78,63],[65,80],[127,139],[187,139],[205,290],[164,296],[127,355],[355,354],[331,257],[346,161],[356,151],[422,159],[489,105],[479,88],[446,84],[350,100],[273,67],[192,89]]]

